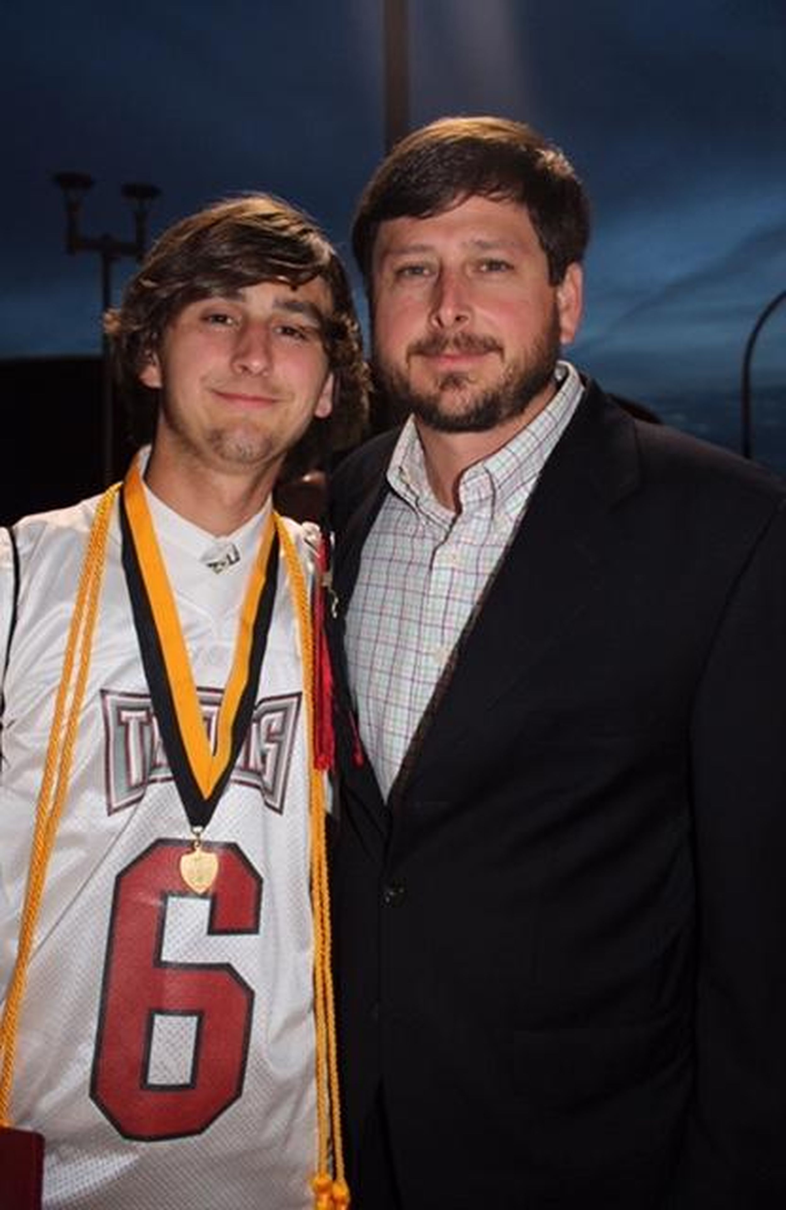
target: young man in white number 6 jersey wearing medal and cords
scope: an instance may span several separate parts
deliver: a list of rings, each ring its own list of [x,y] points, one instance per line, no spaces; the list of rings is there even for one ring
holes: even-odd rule
[[[341,1204],[314,559],[271,491],[362,405],[351,292],[249,196],[167,231],[109,330],[152,448],[2,548],[0,1203],[41,1134],[47,1210]]]

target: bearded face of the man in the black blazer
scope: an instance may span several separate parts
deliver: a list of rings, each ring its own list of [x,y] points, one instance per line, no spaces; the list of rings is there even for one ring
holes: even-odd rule
[[[549,282],[524,206],[473,196],[381,224],[372,258],[375,369],[420,421],[446,432],[521,422],[553,393],[582,273]]]

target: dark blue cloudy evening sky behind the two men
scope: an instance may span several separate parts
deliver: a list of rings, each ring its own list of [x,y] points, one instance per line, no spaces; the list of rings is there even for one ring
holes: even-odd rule
[[[409,0],[409,19],[412,125],[525,119],[585,179],[573,358],[739,446],[745,341],[786,289],[782,0]],[[0,56],[0,359],[99,348],[99,263],[65,255],[57,171],[96,178],[91,235],[131,237],[120,186],[150,180],[154,235],[267,189],[347,249],[383,152],[382,0],[41,0],[6,7]],[[753,401],[755,451],[786,472],[786,305],[762,329]]]

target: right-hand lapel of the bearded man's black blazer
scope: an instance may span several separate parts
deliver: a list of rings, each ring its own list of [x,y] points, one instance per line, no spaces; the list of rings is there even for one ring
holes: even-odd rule
[[[589,386],[549,459],[489,587],[408,785],[470,733],[479,714],[525,681],[588,603],[614,557],[614,505],[638,482],[630,417]]]

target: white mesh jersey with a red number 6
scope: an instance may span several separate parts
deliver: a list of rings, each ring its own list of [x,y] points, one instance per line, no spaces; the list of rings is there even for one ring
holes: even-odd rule
[[[16,526],[21,592],[0,784],[0,997],[16,955],[53,699],[94,511],[87,501]],[[181,529],[193,531],[187,523]],[[177,557],[158,532],[171,576],[173,559],[180,569],[173,589],[208,727],[231,666],[259,523],[254,530],[249,557],[230,569],[239,575],[235,586],[195,558],[201,531],[186,532],[185,547],[195,548]],[[7,549],[0,554],[5,644],[12,575]],[[190,828],[141,667],[115,505],[11,1106],[13,1125],[46,1139],[47,1210],[311,1205],[317,1127],[304,707],[282,559],[250,731],[204,832],[206,843],[219,846],[219,878],[204,897],[190,892],[178,872]]]

